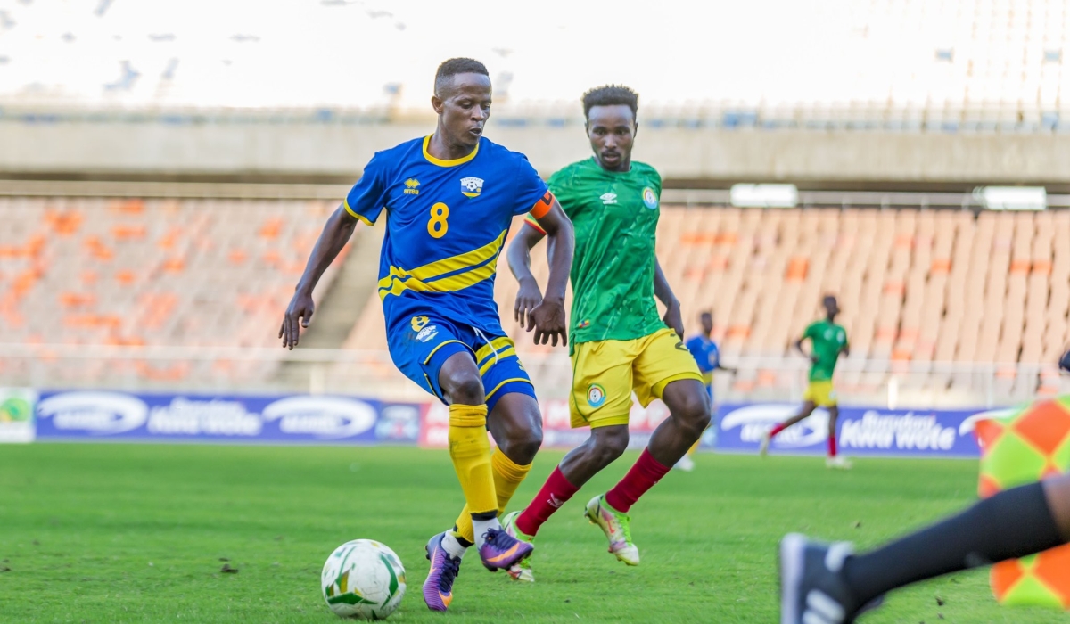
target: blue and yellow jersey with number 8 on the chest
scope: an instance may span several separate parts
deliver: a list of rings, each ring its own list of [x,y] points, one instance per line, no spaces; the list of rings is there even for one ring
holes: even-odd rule
[[[346,197],[346,210],[365,224],[386,211],[379,296],[387,335],[428,309],[504,335],[494,303],[498,257],[513,217],[550,202],[546,183],[523,154],[486,138],[454,161],[432,156],[429,142],[377,152]]]

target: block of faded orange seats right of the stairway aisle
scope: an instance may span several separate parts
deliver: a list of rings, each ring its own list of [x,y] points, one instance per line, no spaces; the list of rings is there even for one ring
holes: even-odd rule
[[[845,396],[880,394],[898,370],[915,372],[907,384],[916,390],[954,397],[976,392],[970,370],[984,366],[997,392],[1017,396],[1037,387],[1015,364],[1036,364],[1041,390],[1055,390],[1052,363],[1070,340],[1070,240],[1058,231],[1070,231],[1070,211],[666,207],[658,256],[686,319],[712,309],[725,356],[751,364],[733,380],[739,393],[775,395],[798,383],[799,367],[781,363],[831,292],[852,340]],[[533,267],[545,281],[541,246]],[[560,393],[568,387],[563,352],[532,345],[513,320],[507,271],[503,258],[503,325],[533,376]],[[372,295],[345,347],[384,349],[382,326]]]

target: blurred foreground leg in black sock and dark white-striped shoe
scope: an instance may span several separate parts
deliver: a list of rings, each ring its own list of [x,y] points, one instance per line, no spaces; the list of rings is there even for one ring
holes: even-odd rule
[[[1070,352],[1059,367],[1070,371]],[[780,543],[780,623],[845,624],[904,585],[1070,542],[1070,474],[1005,490],[865,554],[799,534]]]

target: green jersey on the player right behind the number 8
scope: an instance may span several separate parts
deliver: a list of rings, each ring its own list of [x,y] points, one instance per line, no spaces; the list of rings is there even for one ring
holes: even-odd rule
[[[664,328],[654,301],[661,176],[637,162],[627,172],[607,171],[591,157],[551,176],[549,186],[576,229],[571,345]]]

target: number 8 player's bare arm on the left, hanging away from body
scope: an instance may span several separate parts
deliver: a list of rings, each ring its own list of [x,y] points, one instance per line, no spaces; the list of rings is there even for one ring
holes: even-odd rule
[[[312,247],[312,254],[305,264],[305,272],[301,274],[301,280],[294,288],[293,299],[286,308],[282,317],[282,326],[278,330],[278,337],[282,338],[282,347],[293,349],[297,346],[301,330],[297,326],[300,320],[302,328],[308,328],[308,321],[312,318],[316,305],[312,303],[312,290],[319,283],[323,272],[326,271],[331,262],[338,257],[338,253],[346,246],[346,242],[353,235],[356,229],[356,217],[346,211],[343,206],[331,215],[320,238]]]

